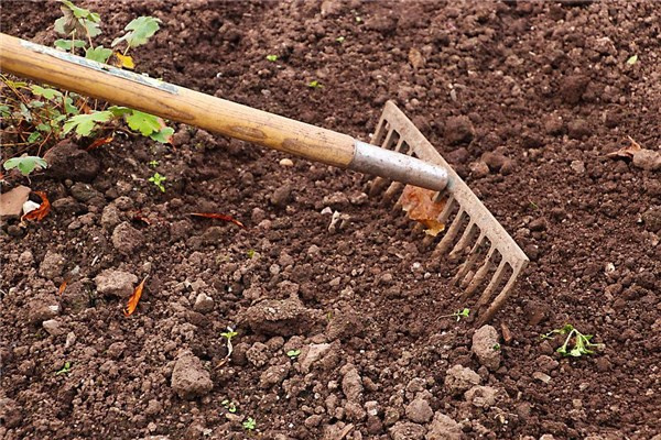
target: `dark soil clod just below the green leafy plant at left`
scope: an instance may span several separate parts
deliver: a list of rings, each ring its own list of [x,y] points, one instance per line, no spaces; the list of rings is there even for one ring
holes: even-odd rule
[[[53,146],[44,154],[44,160],[48,163],[46,174],[62,180],[91,182],[100,169],[99,161],[71,140]]]

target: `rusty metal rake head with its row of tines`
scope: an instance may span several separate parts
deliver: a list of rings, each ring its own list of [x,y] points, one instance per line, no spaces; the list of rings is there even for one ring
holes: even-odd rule
[[[443,160],[434,146],[392,102],[388,101],[371,141],[382,148],[393,150],[443,166],[448,184],[436,193],[434,200],[445,206],[438,221],[447,224],[438,241],[425,237],[426,245],[435,245],[433,257],[447,254],[451,262],[459,262],[453,283],[464,288],[462,304],[481,294],[473,306],[478,324],[489,321],[505,305],[519,274],[528,265],[528,257],[507,233],[491,212]],[[394,207],[401,208],[404,185],[382,177],[372,180],[370,196],[382,195]]]

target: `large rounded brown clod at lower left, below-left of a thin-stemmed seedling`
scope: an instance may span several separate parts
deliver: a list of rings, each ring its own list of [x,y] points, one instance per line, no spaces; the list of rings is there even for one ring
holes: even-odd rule
[[[181,398],[192,400],[208,394],[214,388],[214,383],[202,361],[186,350],[176,359],[171,386]]]

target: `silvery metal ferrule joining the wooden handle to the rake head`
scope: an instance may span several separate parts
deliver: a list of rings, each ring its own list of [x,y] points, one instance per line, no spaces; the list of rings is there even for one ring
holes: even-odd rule
[[[441,191],[447,185],[444,167],[402,153],[356,141],[349,169]]]

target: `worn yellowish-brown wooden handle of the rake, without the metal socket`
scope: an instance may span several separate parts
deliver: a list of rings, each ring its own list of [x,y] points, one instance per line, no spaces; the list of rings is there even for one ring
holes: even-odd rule
[[[349,135],[52,51],[0,34],[0,70],[328,165],[354,157]]]

